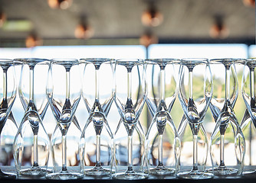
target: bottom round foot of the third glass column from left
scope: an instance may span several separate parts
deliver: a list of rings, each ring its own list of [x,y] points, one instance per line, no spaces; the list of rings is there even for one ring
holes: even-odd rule
[[[54,180],[74,180],[74,179],[80,179],[83,178],[83,175],[80,173],[71,173],[67,171],[61,171],[56,173],[51,173],[46,175],[46,178],[48,179],[54,179]]]

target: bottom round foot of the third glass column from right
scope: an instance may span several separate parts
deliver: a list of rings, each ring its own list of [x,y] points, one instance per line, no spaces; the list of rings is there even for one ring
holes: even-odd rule
[[[190,172],[182,172],[177,174],[178,178],[185,178],[185,179],[208,179],[213,178],[213,174],[209,172],[203,171],[190,171]]]

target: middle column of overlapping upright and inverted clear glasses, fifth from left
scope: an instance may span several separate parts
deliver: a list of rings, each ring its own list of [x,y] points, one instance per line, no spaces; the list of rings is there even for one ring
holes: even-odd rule
[[[139,114],[146,101],[144,67],[141,59],[116,60],[114,100],[121,119],[114,138],[117,164],[113,178],[133,180],[148,177],[145,136],[139,123]]]

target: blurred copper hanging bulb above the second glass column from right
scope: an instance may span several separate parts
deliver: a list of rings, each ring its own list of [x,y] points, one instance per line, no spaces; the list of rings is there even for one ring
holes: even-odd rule
[[[209,30],[209,34],[215,39],[225,39],[229,35],[228,27],[224,24],[223,17],[221,15],[215,16],[215,23]]]

